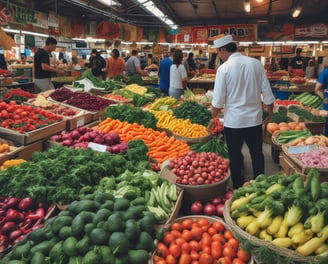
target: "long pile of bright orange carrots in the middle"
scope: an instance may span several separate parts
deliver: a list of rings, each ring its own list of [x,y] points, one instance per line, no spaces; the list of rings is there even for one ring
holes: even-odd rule
[[[149,148],[147,155],[160,164],[167,159],[184,156],[190,150],[186,142],[176,140],[173,136],[168,137],[165,132],[146,128],[137,123],[122,122],[110,117],[102,121],[96,127],[96,130],[102,133],[116,132],[120,135],[121,140],[125,142],[133,139],[143,140]]]

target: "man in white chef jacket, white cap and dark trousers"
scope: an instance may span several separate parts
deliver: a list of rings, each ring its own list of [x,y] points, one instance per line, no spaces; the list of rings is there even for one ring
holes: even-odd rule
[[[230,172],[234,188],[244,183],[242,145],[246,142],[252,160],[253,177],[264,173],[262,147],[263,104],[272,119],[273,102],[270,83],[259,60],[237,52],[231,35],[214,40],[214,47],[223,64],[216,72],[212,100],[212,120],[208,129],[215,128],[214,118],[224,108],[224,134],[228,146]]]

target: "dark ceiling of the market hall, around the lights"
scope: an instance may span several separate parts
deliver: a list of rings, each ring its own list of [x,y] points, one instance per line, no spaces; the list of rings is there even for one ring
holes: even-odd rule
[[[1,2],[6,2],[1,0]],[[327,23],[328,1],[320,0],[11,0],[10,3],[59,15],[92,20],[111,19],[140,27],[165,25],[141,3],[151,3],[178,26],[246,23]],[[245,2],[250,12],[245,11]],[[105,4],[107,3],[107,4]],[[301,8],[297,18],[292,11]]]

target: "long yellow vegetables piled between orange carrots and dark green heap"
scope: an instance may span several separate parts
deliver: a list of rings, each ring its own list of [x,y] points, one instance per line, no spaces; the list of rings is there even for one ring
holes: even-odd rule
[[[190,119],[175,118],[169,111],[151,111],[157,118],[157,127],[170,130],[174,135],[200,138],[208,135],[203,125],[193,124]]]

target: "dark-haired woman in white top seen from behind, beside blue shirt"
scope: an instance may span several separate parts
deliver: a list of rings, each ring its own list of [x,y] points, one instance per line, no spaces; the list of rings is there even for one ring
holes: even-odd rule
[[[183,89],[187,86],[187,72],[182,64],[182,50],[176,49],[173,53],[173,64],[170,67],[169,95],[179,99],[183,95]]]

